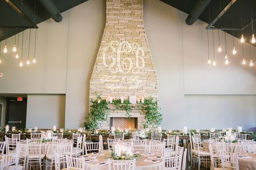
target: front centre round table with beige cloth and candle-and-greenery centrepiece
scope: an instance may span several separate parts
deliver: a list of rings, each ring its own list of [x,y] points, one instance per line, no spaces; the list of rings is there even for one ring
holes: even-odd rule
[[[100,155],[100,154],[87,154],[86,156],[88,157],[97,157],[96,159],[98,161],[89,161],[89,162],[85,162],[85,170],[107,170],[108,169],[108,164],[105,165],[98,165],[102,162],[106,162],[109,158],[110,152],[107,150],[104,150],[102,152],[102,154],[104,155]],[[152,155],[152,157],[155,157],[156,155]],[[83,157],[83,156],[81,156]],[[85,160],[90,160],[91,158],[85,158]],[[159,162],[150,162],[150,161],[144,161],[145,159],[147,160],[159,160]],[[64,168],[66,169],[66,168]],[[113,169],[113,168],[112,168]],[[139,170],[159,170],[159,169],[163,169],[163,160],[162,159],[150,159],[147,156],[143,156],[140,155],[137,159],[136,159],[136,169]]]

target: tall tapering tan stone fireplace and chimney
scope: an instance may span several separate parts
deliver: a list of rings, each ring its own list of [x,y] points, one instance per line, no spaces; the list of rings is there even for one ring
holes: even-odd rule
[[[95,100],[97,94],[102,98],[158,98],[156,71],[143,25],[143,0],[106,0],[106,25],[90,80],[90,98]],[[137,123],[137,128],[142,128],[144,115],[134,106],[133,126]],[[124,118],[123,110],[112,108],[99,128],[110,129],[118,121],[127,122]]]

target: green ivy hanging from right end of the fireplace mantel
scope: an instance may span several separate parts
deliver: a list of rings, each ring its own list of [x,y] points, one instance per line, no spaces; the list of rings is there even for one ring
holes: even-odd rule
[[[153,98],[145,99],[144,103],[139,105],[141,111],[140,114],[145,115],[146,123],[144,128],[149,126],[158,126],[163,120],[163,115],[159,112],[158,101],[153,101]]]

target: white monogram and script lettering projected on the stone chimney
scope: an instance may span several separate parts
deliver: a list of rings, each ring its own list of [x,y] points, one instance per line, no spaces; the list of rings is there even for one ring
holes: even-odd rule
[[[144,55],[136,42],[111,41],[103,51],[103,65],[110,74],[100,74],[100,81],[111,90],[137,89],[142,82],[139,72],[145,67]]]

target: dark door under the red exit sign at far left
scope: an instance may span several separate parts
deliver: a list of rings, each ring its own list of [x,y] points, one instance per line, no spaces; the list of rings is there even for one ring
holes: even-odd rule
[[[17,129],[26,128],[26,98],[17,101],[17,98],[6,98],[5,124],[16,126]]]

